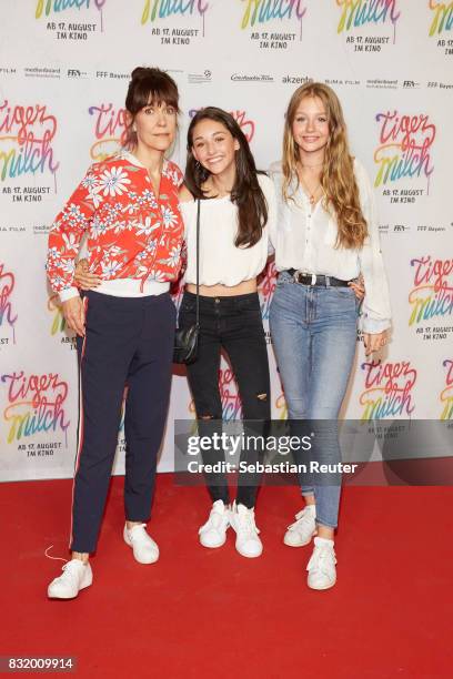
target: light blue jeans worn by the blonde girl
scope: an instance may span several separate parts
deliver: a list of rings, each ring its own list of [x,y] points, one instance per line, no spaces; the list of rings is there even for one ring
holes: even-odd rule
[[[336,420],[348,386],[356,343],[359,303],[350,287],[295,283],[279,276],[270,327],[290,419],[326,419],[322,427],[322,464],[341,460]],[[325,424],[325,426],[324,426]],[[336,528],[341,479],[302,486],[314,495],[316,523]]]

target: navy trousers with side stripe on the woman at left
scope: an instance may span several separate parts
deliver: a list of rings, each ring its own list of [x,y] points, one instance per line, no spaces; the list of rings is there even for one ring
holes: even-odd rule
[[[78,337],[80,414],[70,548],[95,550],[128,387],[124,510],[147,521],[170,395],[175,308],[168,293],[84,297],[85,337]]]

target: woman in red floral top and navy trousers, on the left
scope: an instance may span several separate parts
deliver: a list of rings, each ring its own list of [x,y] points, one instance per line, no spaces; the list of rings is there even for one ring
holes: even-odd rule
[[[77,332],[79,443],[72,491],[72,559],[49,586],[69,599],[92,582],[125,384],[124,541],[141,564],[159,558],[145,531],[170,393],[175,308],[170,283],[180,272],[182,174],[165,160],[177,133],[179,97],[159,69],[138,68],[125,100],[125,149],[92,165],[50,236],[48,276],[68,327]],[[74,261],[88,236],[90,272],[102,280],[81,298]]]

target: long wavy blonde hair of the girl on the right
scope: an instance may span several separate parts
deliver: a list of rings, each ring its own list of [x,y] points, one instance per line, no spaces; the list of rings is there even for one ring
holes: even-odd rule
[[[288,105],[283,134],[283,199],[286,202],[294,200],[290,186],[294,179],[298,188],[300,183],[299,148],[292,128],[299,104],[305,97],[318,97],[322,101],[329,121],[330,136],[320,183],[324,191],[324,209],[333,212],[336,217],[339,233],[335,247],[360,249],[368,235],[368,224],[360,205],[343,111],[339,98],[329,85],[308,82],[295,90]]]

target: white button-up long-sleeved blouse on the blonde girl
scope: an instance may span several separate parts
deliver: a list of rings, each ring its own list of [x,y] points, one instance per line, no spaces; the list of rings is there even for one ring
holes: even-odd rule
[[[294,200],[284,201],[281,163],[273,163],[270,174],[274,181],[278,219],[271,241],[275,249],[278,271],[295,268],[306,273],[335,276],[344,281],[356,278],[362,272],[365,297],[362,305],[361,327],[366,333],[380,333],[391,325],[389,286],[379,240],[379,225],[374,193],[364,168],[354,160],[363,216],[369,235],[363,247],[335,247],[338,225],[335,216],[326,212],[319,201],[315,205],[301,185],[293,185]],[[290,188],[291,195],[291,188]]]

